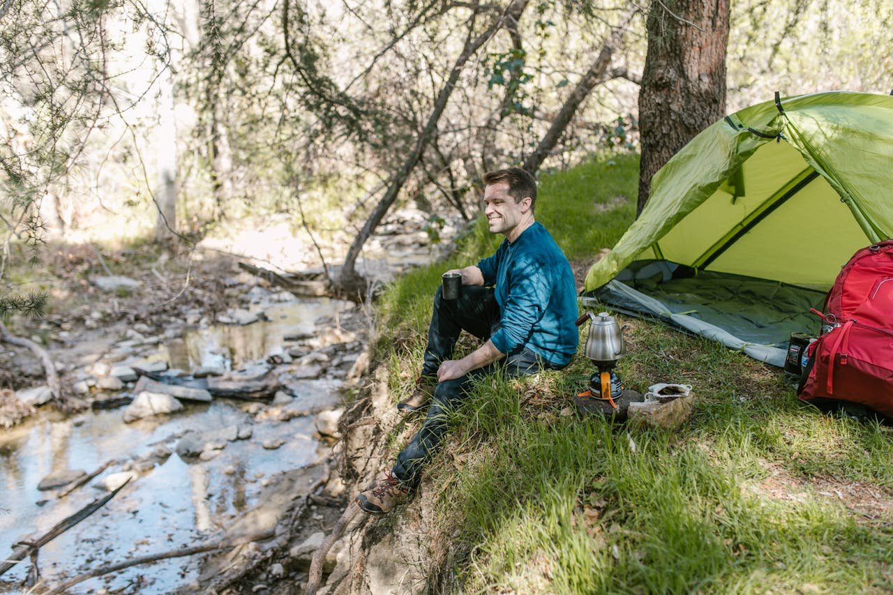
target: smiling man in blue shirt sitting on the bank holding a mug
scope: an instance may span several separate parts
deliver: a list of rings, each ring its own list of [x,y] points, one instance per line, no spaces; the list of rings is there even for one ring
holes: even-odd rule
[[[447,431],[447,410],[467,397],[472,382],[502,369],[506,377],[560,370],[577,351],[577,296],[571,265],[533,218],[536,180],[512,167],[484,176],[489,229],[505,241],[496,254],[455,270],[463,288],[457,299],[434,297],[421,377],[413,395],[397,405],[415,411],[433,396],[425,421],[388,473],[356,501],[371,515],[384,515],[418,483],[421,465]],[[462,331],[487,341],[450,359]],[[505,358],[505,362],[499,360]]]

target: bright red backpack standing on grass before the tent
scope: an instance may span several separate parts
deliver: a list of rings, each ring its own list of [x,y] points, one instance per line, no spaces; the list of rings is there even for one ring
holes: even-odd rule
[[[825,298],[799,398],[860,403],[893,418],[893,239],[862,248]]]

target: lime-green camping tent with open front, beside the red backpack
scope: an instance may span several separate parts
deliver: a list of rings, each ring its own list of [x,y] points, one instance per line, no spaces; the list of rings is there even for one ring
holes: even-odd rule
[[[663,166],[586,292],[783,365],[817,334],[840,267],[893,237],[893,96],[778,98],[715,122]]]

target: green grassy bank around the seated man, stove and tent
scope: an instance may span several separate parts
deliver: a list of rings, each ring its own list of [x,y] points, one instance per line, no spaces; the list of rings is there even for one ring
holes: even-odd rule
[[[620,238],[637,171],[620,155],[542,180],[538,221],[572,261]],[[452,261],[388,290],[376,354],[395,401],[418,370],[440,272],[498,241],[479,225]],[[691,384],[694,415],[678,432],[575,415],[592,373],[582,356],[560,373],[485,381],[424,480],[441,494],[442,557],[464,592],[893,589],[889,428],[802,406],[780,370],[718,343],[622,323],[626,384]]]

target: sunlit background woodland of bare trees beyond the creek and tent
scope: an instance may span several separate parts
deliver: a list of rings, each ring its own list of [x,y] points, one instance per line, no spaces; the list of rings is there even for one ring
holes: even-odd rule
[[[888,4],[732,2],[722,111],[889,92]],[[54,237],[182,250],[278,218],[349,281],[394,205],[436,231],[476,214],[497,165],[637,151],[649,35],[701,30],[655,6],[660,28],[619,0],[5,0],[3,262]]]

